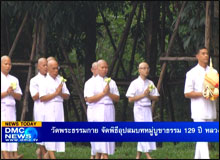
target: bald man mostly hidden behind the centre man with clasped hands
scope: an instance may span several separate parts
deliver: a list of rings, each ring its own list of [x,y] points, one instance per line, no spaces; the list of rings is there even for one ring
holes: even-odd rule
[[[84,98],[87,100],[87,93],[89,92],[89,88],[91,85],[93,85],[93,80],[98,74],[98,63],[93,62],[91,72],[93,73],[93,76],[85,82],[84,85]],[[94,116],[95,116],[95,105],[94,103],[88,103],[86,102],[88,107],[87,107],[87,120],[88,122],[94,122]],[[94,152],[94,142],[91,142],[91,157],[90,159],[95,159],[95,152]]]

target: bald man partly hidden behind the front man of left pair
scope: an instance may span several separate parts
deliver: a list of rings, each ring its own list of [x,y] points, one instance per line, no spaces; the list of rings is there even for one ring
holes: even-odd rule
[[[41,102],[39,98],[39,86],[40,83],[45,82],[45,77],[47,75],[47,59],[39,58],[37,68],[38,68],[38,74],[30,80],[29,90],[31,93],[31,97],[34,101],[34,120],[43,122],[45,119],[44,117],[45,106],[44,106],[44,102]],[[42,156],[45,155],[47,151],[43,142],[37,144],[38,144],[38,149],[36,150],[37,158],[41,159]]]

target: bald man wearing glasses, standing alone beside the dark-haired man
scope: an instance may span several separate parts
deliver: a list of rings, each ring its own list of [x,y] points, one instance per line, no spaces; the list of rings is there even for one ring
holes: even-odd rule
[[[138,71],[140,76],[131,82],[126,97],[129,102],[134,102],[135,122],[152,122],[151,101],[158,101],[159,93],[156,87],[150,91],[150,85],[154,86],[154,83],[147,79],[150,72],[149,65],[146,62],[140,63]],[[138,142],[136,159],[140,159],[142,152],[145,152],[146,157],[151,159],[148,152],[152,150],[156,150],[155,142]]]

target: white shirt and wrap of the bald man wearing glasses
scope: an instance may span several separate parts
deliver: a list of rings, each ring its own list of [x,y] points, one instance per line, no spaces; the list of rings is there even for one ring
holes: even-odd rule
[[[126,97],[134,97],[143,94],[149,84],[154,84],[151,80],[146,79],[145,81],[139,76],[133,80],[128,87]],[[159,96],[157,88],[150,92],[151,96]],[[152,111],[151,111],[151,100],[147,97],[142,98],[134,102],[134,121],[135,122],[153,122]],[[138,142],[137,151],[139,152],[150,152],[156,150],[155,142]]]

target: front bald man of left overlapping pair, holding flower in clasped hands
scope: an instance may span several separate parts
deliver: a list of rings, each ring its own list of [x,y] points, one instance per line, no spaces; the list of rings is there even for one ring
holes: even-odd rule
[[[39,97],[45,106],[46,122],[64,122],[63,99],[69,99],[69,90],[65,82],[58,77],[59,66],[56,60],[48,61],[48,73],[45,83],[40,83]],[[54,152],[65,152],[65,142],[45,142],[47,153],[44,158],[54,159]]]

